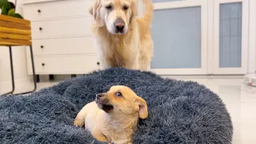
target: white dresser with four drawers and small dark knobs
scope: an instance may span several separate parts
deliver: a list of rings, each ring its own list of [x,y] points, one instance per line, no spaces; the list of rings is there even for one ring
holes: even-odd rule
[[[23,0],[31,21],[36,74],[86,74],[100,69],[91,32],[93,0]],[[28,70],[30,54],[27,53]]]

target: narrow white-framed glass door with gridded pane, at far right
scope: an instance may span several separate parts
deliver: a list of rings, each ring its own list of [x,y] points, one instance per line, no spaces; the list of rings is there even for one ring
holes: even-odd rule
[[[246,74],[248,0],[214,0],[214,74]]]

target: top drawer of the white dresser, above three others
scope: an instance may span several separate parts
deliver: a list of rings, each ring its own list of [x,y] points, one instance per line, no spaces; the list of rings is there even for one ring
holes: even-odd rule
[[[74,16],[90,16],[92,0],[40,2],[24,5],[24,15],[30,21],[42,21]]]

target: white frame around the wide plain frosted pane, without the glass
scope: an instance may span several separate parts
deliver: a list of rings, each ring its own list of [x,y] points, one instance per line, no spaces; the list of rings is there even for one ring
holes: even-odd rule
[[[207,74],[207,1],[184,0],[174,2],[154,3],[154,10],[171,10],[186,7],[201,6],[201,68],[177,68],[177,69],[150,69],[156,74]]]

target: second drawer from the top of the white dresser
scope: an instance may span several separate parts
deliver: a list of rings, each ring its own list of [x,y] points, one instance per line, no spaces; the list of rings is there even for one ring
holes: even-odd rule
[[[32,38],[62,38],[71,36],[92,36],[92,18],[59,19],[31,22]]]

